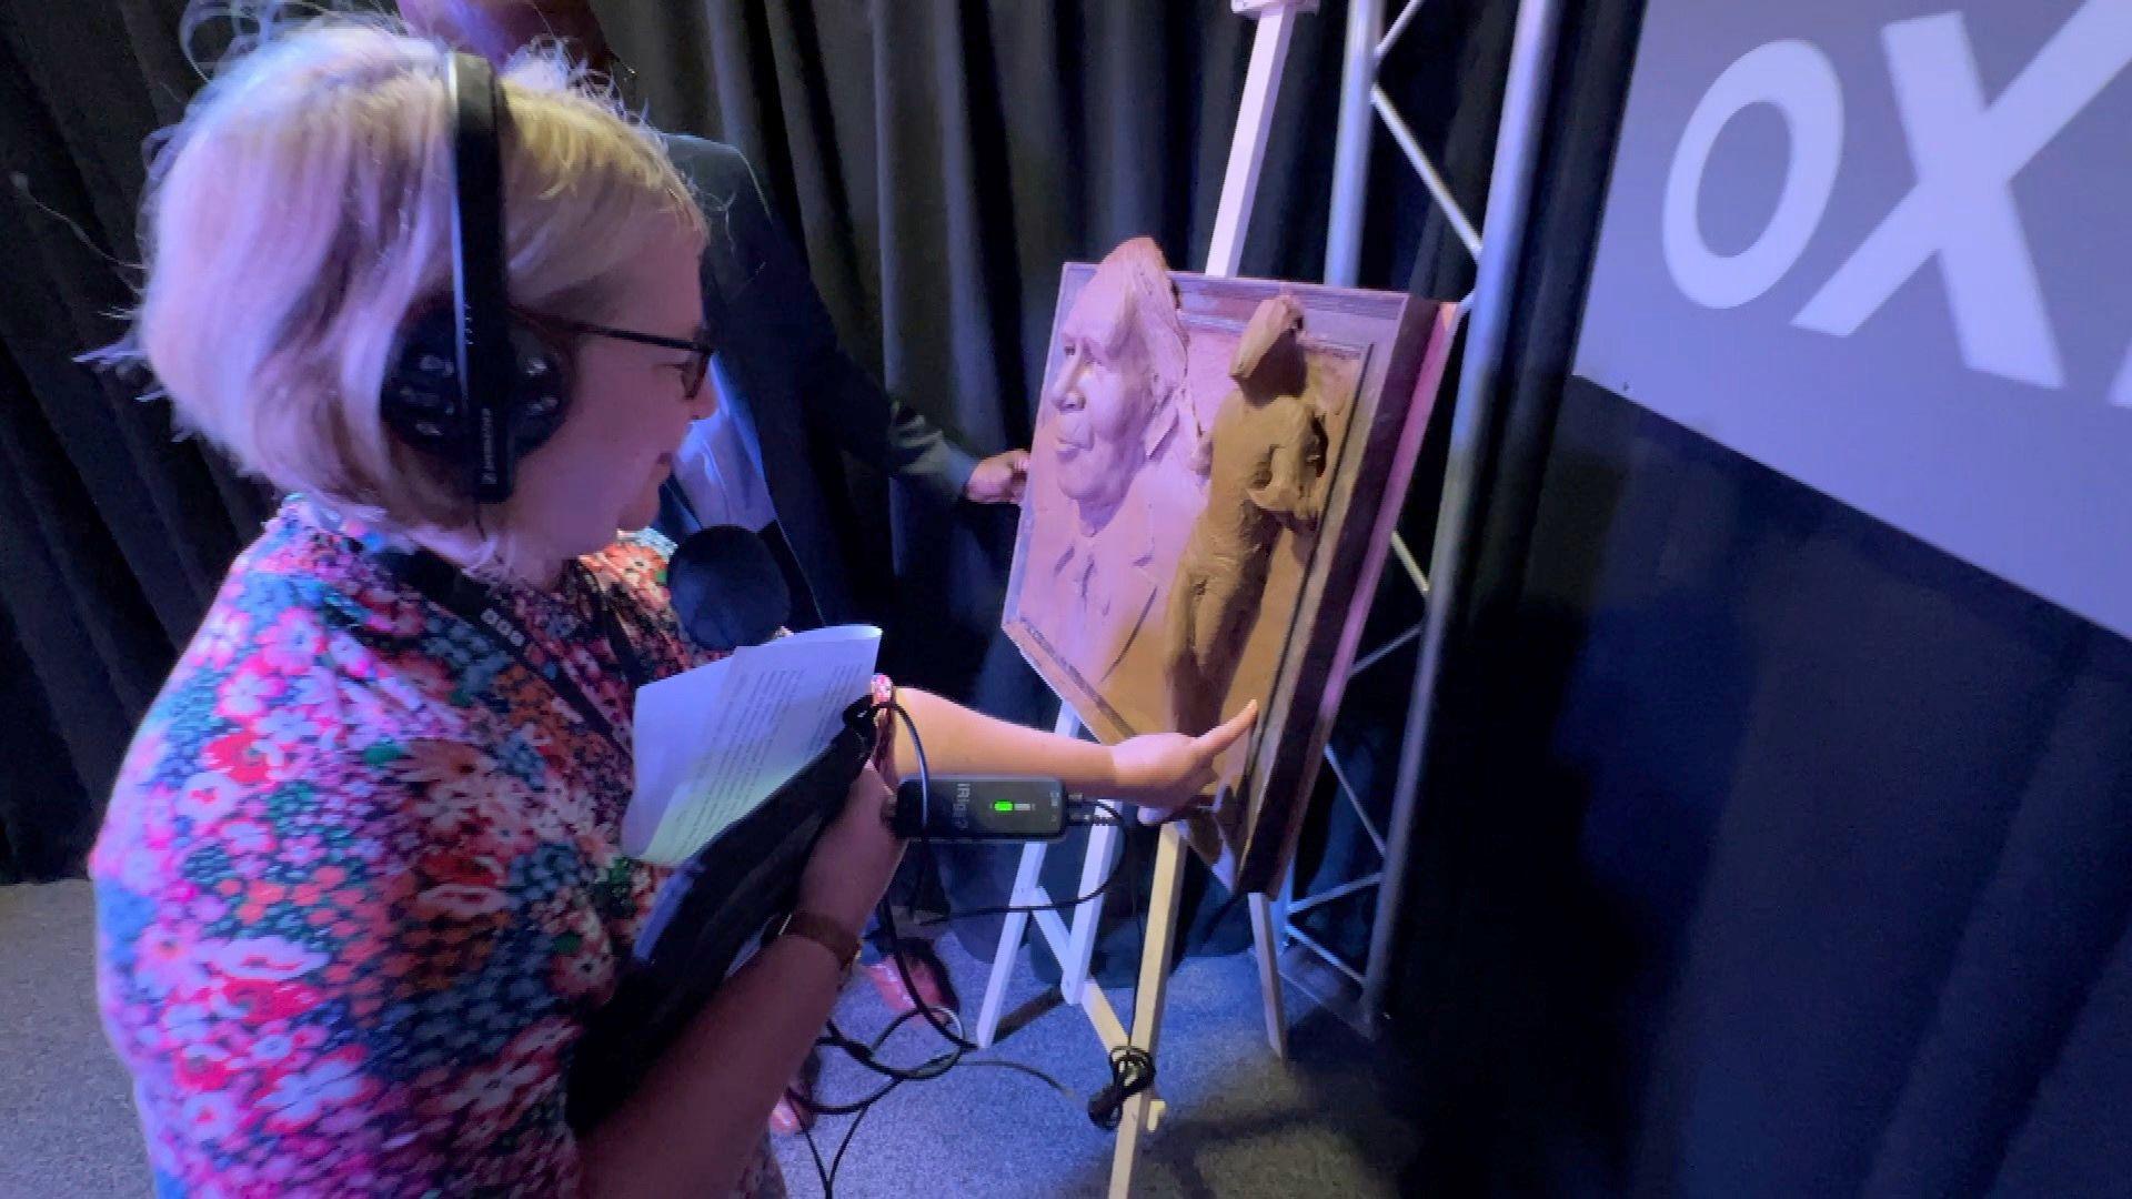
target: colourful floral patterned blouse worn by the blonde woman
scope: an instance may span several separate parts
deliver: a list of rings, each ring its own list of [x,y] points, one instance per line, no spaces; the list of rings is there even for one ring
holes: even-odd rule
[[[160,1195],[578,1190],[563,1075],[663,870],[620,851],[627,751],[290,499],[134,736],[90,860],[104,1028]],[[580,559],[652,676],[657,533]],[[591,602],[507,589],[627,745]],[[757,1150],[744,1195],[780,1195]]]

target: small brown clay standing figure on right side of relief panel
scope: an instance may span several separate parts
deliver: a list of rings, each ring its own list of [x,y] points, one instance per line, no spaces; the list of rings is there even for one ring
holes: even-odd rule
[[[1326,437],[1309,395],[1303,307],[1258,305],[1200,459],[1207,510],[1177,561],[1168,608],[1168,687],[1177,732],[1220,723],[1283,529],[1313,531],[1324,512]]]

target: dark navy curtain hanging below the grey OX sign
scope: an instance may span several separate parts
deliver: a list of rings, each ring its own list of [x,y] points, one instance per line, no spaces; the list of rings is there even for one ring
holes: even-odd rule
[[[2121,1195],[2132,644],[1569,375],[1642,4],[1567,9],[1409,875],[1411,1188]]]

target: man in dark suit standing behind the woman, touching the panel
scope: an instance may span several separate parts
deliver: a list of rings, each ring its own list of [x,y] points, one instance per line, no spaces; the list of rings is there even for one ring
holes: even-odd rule
[[[552,36],[595,70],[614,75],[614,55],[588,0],[401,0],[409,30],[490,62],[505,62]],[[793,627],[857,617],[829,497],[808,465],[817,439],[889,478],[942,499],[1019,503],[1028,452],[976,459],[925,416],[889,399],[838,346],[829,311],[800,252],[770,220],[755,171],[738,149],[667,137],[667,156],[695,188],[710,243],[704,250],[704,318],[716,331],[712,371],[718,412],[691,427],[659,495],[659,531],[676,542],[706,525],[763,533],[793,593]],[[949,1007],[925,956],[910,958],[917,996],[868,928],[861,969],[895,1011],[917,998]],[[800,1107],[780,1101],[772,1124],[795,1131]]]

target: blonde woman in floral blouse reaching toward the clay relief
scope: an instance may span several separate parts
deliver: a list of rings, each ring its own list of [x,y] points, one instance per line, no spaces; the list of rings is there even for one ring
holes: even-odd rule
[[[763,1122],[836,996],[834,945],[895,868],[887,789],[866,772],[814,849],[810,932],[571,1129],[565,1062],[661,881],[618,847],[631,676],[704,661],[663,544],[616,535],[650,523],[716,403],[704,228],[657,139],[563,62],[505,73],[505,284],[569,386],[510,497],[475,508],[379,418],[407,331],[452,292],[450,62],[379,26],[281,32],[154,164],[132,343],[190,429],[292,499],[113,789],[92,860],[104,1022],[164,1195],[778,1193]],[[407,555],[484,587],[522,653],[409,587]],[[1207,785],[1249,719],[1102,749],[900,700],[934,770],[1153,806]],[[893,738],[883,766],[910,760]]]

